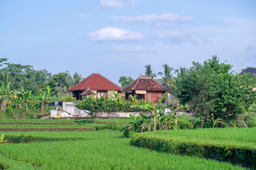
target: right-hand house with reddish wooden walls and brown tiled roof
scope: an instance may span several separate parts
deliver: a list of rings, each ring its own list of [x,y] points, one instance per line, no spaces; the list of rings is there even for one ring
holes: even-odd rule
[[[129,86],[121,89],[121,93],[125,94],[126,100],[129,99],[129,95],[137,95],[137,99],[149,100],[155,103],[159,102],[166,91],[168,92],[168,95],[165,96],[163,102],[170,101],[168,96],[171,95],[171,92],[152,77],[139,77]]]

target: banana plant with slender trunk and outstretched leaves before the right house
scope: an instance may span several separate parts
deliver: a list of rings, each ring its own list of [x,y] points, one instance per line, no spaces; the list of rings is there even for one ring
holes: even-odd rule
[[[159,102],[157,103],[157,106],[155,106],[155,104],[153,106],[149,105],[149,104],[144,104],[144,105],[132,105],[130,106],[131,108],[141,108],[141,109],[146,109],[146,110],[149,110],[151,111],[151,113],[153,114],[153,121],[154,121],[154,131],[156,131],[156,116],[157,114],[162,111],[162,101],[164,100],[164,97],[165,95],[167,94],[168,92],[165,92],[164,95],[161,97],[161,99],[159,100]]]

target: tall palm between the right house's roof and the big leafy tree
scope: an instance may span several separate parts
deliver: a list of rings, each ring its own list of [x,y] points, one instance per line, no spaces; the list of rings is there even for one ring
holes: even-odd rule
[[[171,79],[173,78],[173,75],[172,75],[171,72],[173,71],[173,68],[168,66],[168,64],[164,64],[163,67],[164,67],[164,73],[162,73],[160,71],[160,72],[157,73],[157,75],[160,75],[160,76],[164,75],[164,76],[162,76],[162,80],[161,80],[162,85],[164,87],[170,89],[171,86],[172,86],[171,85]]]

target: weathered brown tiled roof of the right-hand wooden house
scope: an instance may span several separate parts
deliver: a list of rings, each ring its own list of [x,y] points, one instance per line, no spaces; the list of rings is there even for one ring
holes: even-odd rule
[[[132,82],[126,88],[123,88],[121,91],[170,91],[168,88],[165,88],[152,77],[139,77],[134,82]]]

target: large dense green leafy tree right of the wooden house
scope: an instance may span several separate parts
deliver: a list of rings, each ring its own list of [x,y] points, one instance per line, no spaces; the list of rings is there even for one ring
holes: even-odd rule
[[[176,97],[190,107],[193,116],[202,119],[202,125],[211,114],[227,122],[236,120],[255,103],[256,75],[234,75],[230,70],[229,64],[207,60],[193,62],[186,74],[177,76]]]

